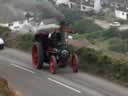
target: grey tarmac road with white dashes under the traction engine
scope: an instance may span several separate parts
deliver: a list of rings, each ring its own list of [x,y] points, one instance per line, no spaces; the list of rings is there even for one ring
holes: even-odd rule
[[[73,74],[70,68],[56,75],[35,70],[31,55],[6,48],[0,51],[0,76],[22,96],[128,96],[128,89],[83,72]]]

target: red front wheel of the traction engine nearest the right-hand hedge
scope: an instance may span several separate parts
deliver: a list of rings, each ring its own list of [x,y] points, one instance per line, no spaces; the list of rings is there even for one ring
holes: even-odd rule
[[[78,72],[78,56],[76,54],[71,57],[71,67],[74,73]]]

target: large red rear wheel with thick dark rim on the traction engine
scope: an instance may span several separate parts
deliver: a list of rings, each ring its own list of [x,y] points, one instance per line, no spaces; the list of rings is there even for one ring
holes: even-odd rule
[[[35,42],[32,46],[32,63],[34,68],[41,69],[44,63],[43,48],[41,43]]]

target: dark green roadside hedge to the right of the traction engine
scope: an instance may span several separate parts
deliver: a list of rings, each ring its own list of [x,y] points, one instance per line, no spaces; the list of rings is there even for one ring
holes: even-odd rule
[[[118,81],[128,86],[128,62],[113,59],[101,51],[90,48],[80,48],[76,51],[79,57],[79,67],[86,72]]]

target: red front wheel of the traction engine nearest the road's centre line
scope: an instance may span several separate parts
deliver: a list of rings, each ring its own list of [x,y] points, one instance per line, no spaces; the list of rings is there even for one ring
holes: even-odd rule
[[[51,56],[49,63],[50,63],[50,64],[49,64],[50,73],[51,73],[51,74],[55,74],[55,73],[56,73],[56,67],[57,67],[57,66],[56,66],[57,62],[56,62],[55,56]]]

